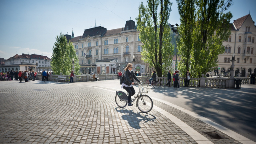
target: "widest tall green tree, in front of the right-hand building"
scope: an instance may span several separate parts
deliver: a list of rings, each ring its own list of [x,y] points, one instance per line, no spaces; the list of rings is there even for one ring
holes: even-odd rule
[[[176,0],[180,13],[181,58],[179,69],[193,77],[201,77],[217,66],[218,55],[224,53],[222,42],[228,39],[232,0]]]

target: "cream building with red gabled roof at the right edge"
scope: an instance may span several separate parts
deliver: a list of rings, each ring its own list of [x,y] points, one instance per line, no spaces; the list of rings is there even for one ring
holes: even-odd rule
[[[219,70],[215,68],[214,74],[229,75],[231,59],[235,53],[234,76],[250,76],[256,73],[256,28],[250,14],[234,20],[230,24],[231,35],[223,42],[225,53],[218,56]]]

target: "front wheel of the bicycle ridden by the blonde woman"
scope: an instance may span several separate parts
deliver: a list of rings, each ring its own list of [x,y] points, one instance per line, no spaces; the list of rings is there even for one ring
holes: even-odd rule
[[[142,95],[137,100],[137,106],[143,113],[148,113],[153,108],[153,101],[148,95]]]

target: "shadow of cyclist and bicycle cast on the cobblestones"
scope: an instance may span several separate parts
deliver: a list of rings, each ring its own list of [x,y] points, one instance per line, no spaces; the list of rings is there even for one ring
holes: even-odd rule
[[[117,112],[126,114],[121,116],[123,120],[127,120],[128,124],[135,129],[141,129],[140,124],[151,123],[150,121],[155,122],[156,119],[156,116],[148,113],[135,113],[132,110],[127,110],[125,108],[120,108],[120,110],[118,110],[117,108],[115,108]],[[142,121],[144,121],[144,123],[141,123]]]

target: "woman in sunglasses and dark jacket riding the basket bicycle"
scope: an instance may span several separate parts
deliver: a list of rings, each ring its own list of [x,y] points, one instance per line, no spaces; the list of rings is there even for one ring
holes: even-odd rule
[[[128,93],[128,106],[132,106],[132,102],[131,102],[131,97],[135,94],[135,90],[132,87],[132,84],[134,84],[133,82],[133,78],[138,81],[139,83],[140,80],[134,75],[133,71],[132,71],[132,64],[128,63],[127,67],[124,69],[125,70],[125,74],[124,74],[124,81],[123,84],[121,86],[121,88],[125,89]]]

